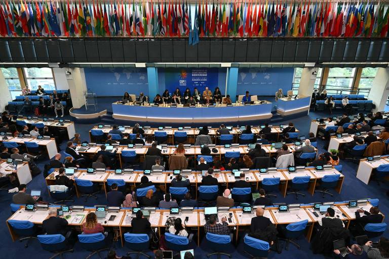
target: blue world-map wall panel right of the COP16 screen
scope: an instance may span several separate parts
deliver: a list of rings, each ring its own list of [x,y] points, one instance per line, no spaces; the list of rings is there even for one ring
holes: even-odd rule
[[[239,68],[238,95],[274,96],[282,88],[284,94],[292,89],[294,68]]]

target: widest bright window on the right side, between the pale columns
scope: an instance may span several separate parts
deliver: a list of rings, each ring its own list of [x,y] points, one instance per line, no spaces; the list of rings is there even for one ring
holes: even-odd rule
[[[334,67],[328,72],[326,90],[330,94],[349,94],[352,89],[356,68]],[[329,91],[333,90],[333,91]]]

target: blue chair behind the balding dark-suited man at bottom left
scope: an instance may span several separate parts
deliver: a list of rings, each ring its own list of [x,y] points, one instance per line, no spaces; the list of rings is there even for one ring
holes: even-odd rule
[[[61,256],[66,252],[73,252],[71,246],[67,242],[64,236],[60,234],[56,235],[38,235],[37,236],[41,246],[44,250],[55,253],[50,259],[53,259],[57,256]]]

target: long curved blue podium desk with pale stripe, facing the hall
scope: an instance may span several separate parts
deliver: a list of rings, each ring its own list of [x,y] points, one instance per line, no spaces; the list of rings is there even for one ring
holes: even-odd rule
[[[112,104],[113,118],[147,122],[237,122],[271,118],[270,102],[234,106],[153,107]]]

